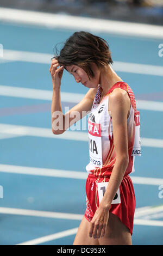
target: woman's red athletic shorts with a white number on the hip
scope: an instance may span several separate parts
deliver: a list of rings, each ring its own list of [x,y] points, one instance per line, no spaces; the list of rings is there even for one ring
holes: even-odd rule
[[[108,176],[95,176],[89,174],[86,180],[86,211],[85,217],[91,222],[99,202],[105,193]],[[109,210],[120,218],[133,234],[134,212],[135,212],[135,193],[133,182],[129,175],[124,176],[120,188],[117,191]]]

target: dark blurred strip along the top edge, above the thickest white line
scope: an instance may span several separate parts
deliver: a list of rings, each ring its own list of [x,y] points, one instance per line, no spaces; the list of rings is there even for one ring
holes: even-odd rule
[[[2,7],[162,25],[162,0],[1,0]]]

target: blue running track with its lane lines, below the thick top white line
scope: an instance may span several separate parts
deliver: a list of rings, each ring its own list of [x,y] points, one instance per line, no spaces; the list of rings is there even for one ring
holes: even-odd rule
[[[70,130],[62,138],[51,132],[53,48],[76,30],[0,22],[4,51],[0,57],[1,245],[72,245],[84,214],[86,130]],[[96,34],[109,42],[115,63],[126,67],[116,71],[140,102],[142,156],[135,160],[135,173],[130,175],[136,196],[133,245],[162,245],[163,84],[161,74],[148,74],[151,67],[163,71],[163,57],[158,55],[162,39]],[[134,72],[128,63],[142,66]],[[64,71],[63,111],[86,92]]]

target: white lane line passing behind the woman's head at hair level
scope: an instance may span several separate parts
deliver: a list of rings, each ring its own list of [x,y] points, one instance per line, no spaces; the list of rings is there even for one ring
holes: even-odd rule
[[[2,59],[2,60],[16,61],[16,62],[33,62],[33,63],[50,65],[52,57],[54,56],[48,53],[15,51],[15,50],[4,49],[3,57],[0,57],[0,60]],[[115,61],[112,67],[117,72],[163,76],[163,66]]]

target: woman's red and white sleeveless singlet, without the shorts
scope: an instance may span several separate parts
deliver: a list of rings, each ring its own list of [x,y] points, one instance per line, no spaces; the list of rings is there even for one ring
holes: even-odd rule
[[[128,84],[117,82],[101,103],[98,104],[94,100],[88,117],[90,163],[87,164],[86,170],[94,175],[110,175],[116,161],[112,119],[108,113],[109,94],[115,88],[126,90],[131,100],[130,115],[127,119],[129,164],[125,175],[134,172],[134,158],[141,155],[140,112],[136,111],[135,97]]]

